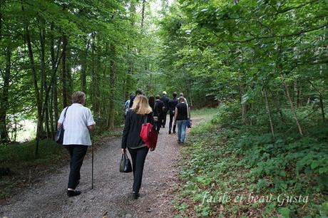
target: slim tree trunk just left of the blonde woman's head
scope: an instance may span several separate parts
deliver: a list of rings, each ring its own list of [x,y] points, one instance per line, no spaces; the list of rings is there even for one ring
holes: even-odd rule
[[[114,105],[114,96],[115,96],[115,77],[116,77],[116,67],[115,67],[115,61],[114,58],[116,56],[116,48],[113,43],[111,43],[111,72],[109,74],[109,85],[110,85],[110,91],[109,91],[109,119],[108,124],[109,128],[113,130],[114,128],[114,120],[115,120],[115,105]]]

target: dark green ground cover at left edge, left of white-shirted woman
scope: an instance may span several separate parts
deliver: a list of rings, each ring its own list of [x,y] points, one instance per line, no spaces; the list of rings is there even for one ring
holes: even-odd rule
[[[0,177],[0,199],[11,196],[12,191],[21,186],[21,180],[26,183],[26,174],[36,169],[36,175],[44,171],[56,170],[58,165],[63,164],[65,160],[63,157],[67,157],[66,149],[53,140],[40,142],[39,158],[36,159],[34,152],[34,140],[0,146],[1,167],[10,171],[9,175]]]

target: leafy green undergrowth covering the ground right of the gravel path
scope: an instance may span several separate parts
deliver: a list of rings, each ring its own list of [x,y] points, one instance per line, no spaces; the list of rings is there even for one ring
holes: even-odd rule
[[[239,112],[223,105],[193,128],[177,217],[327,217],[327,125],[304,120],[304,137],[284,125],[272,136],[264,115],[242,125]]]

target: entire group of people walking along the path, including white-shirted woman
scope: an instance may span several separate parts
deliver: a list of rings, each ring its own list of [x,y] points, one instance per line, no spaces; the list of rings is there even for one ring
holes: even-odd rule
[[[58,128],[63,127],[63,145],[67,148],[71,161],[68,176],[68,197],[81,194],[76,190],[81,176],[80,170],[88,146],[91,145],[89,131],[95,129],[96,123],[91,115],[91,110],[84,107],[86,94],[78,91],[72,95],[72,105],[66,107],[61,112],[58,120]],[[138,199],[139,190],[143,178],[143,166],[148,150],[145,142],[140,138],[140,130],[143,123],[151,123],[157,133],[160,128],[165,128],[166,116],[169,113],[170,122],[168,134],[176,133],[178,128],[178,143],[185,142],[185,129],[190,119],[190,109],[183,93],[177,98],[177,93],[173,93],[173,98],[168,98],[167,93],[163,95],[153,95],[148,98],[137,90],[135,95],[125,102],[125,126],[123,130],[121,150],[125,154],[128,149],[133,165],[133,198]],[[173,131],[172,131],[173,130]]]

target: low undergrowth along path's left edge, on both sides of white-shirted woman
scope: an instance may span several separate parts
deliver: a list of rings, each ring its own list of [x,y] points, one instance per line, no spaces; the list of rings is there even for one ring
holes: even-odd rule
[[[95,148],[106,143],[108,137],[121,135],[121,128],[95,133]],[[67,150],[53,140],[41,140],[38,157],[35,149],[35,140],[0,146],[0,199],[9,197],[13,190],[29,185],[44,173],[68,164]]]

